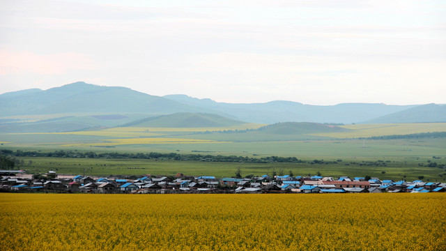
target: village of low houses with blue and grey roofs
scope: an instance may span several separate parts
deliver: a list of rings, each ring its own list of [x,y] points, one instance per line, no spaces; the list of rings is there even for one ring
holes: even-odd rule
[[[446,183],[380,180],[342,176],[253,176],[250,178],[215,178],[215,176],[141,176],[99,178],[57,175],[38,179],[23,171],[0,171],[1,192],[59,193],[363,193],[363,192],[445,192]],[[40,178],[47,176],[40,176]]]

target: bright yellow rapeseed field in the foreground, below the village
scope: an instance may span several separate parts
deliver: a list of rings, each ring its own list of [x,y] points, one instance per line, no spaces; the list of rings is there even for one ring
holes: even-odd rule
[[[0,194],[1,250],[446,250],[446,194]]]

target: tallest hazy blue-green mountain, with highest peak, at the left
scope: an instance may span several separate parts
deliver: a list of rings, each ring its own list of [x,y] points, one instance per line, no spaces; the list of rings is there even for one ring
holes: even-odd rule
[[[203,112],[206,109],[180,104],[125,87],[76,82],[46,91],[26,90],[0,96],[0,116],[79,113]]]

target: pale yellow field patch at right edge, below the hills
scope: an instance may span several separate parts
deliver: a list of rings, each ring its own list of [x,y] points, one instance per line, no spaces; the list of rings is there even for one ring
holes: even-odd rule
[[[408,135],[421,132],[445,132],[446,123],[388,123],[388,124],[358,124],[340,126],[349,129],[347,132],[313,133],[310,135],[355,138],[385,135]]]

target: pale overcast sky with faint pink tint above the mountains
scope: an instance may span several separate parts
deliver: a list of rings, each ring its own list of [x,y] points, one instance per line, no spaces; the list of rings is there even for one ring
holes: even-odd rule
[[[446,103],[446,1],[0,0],[0,93]]]

